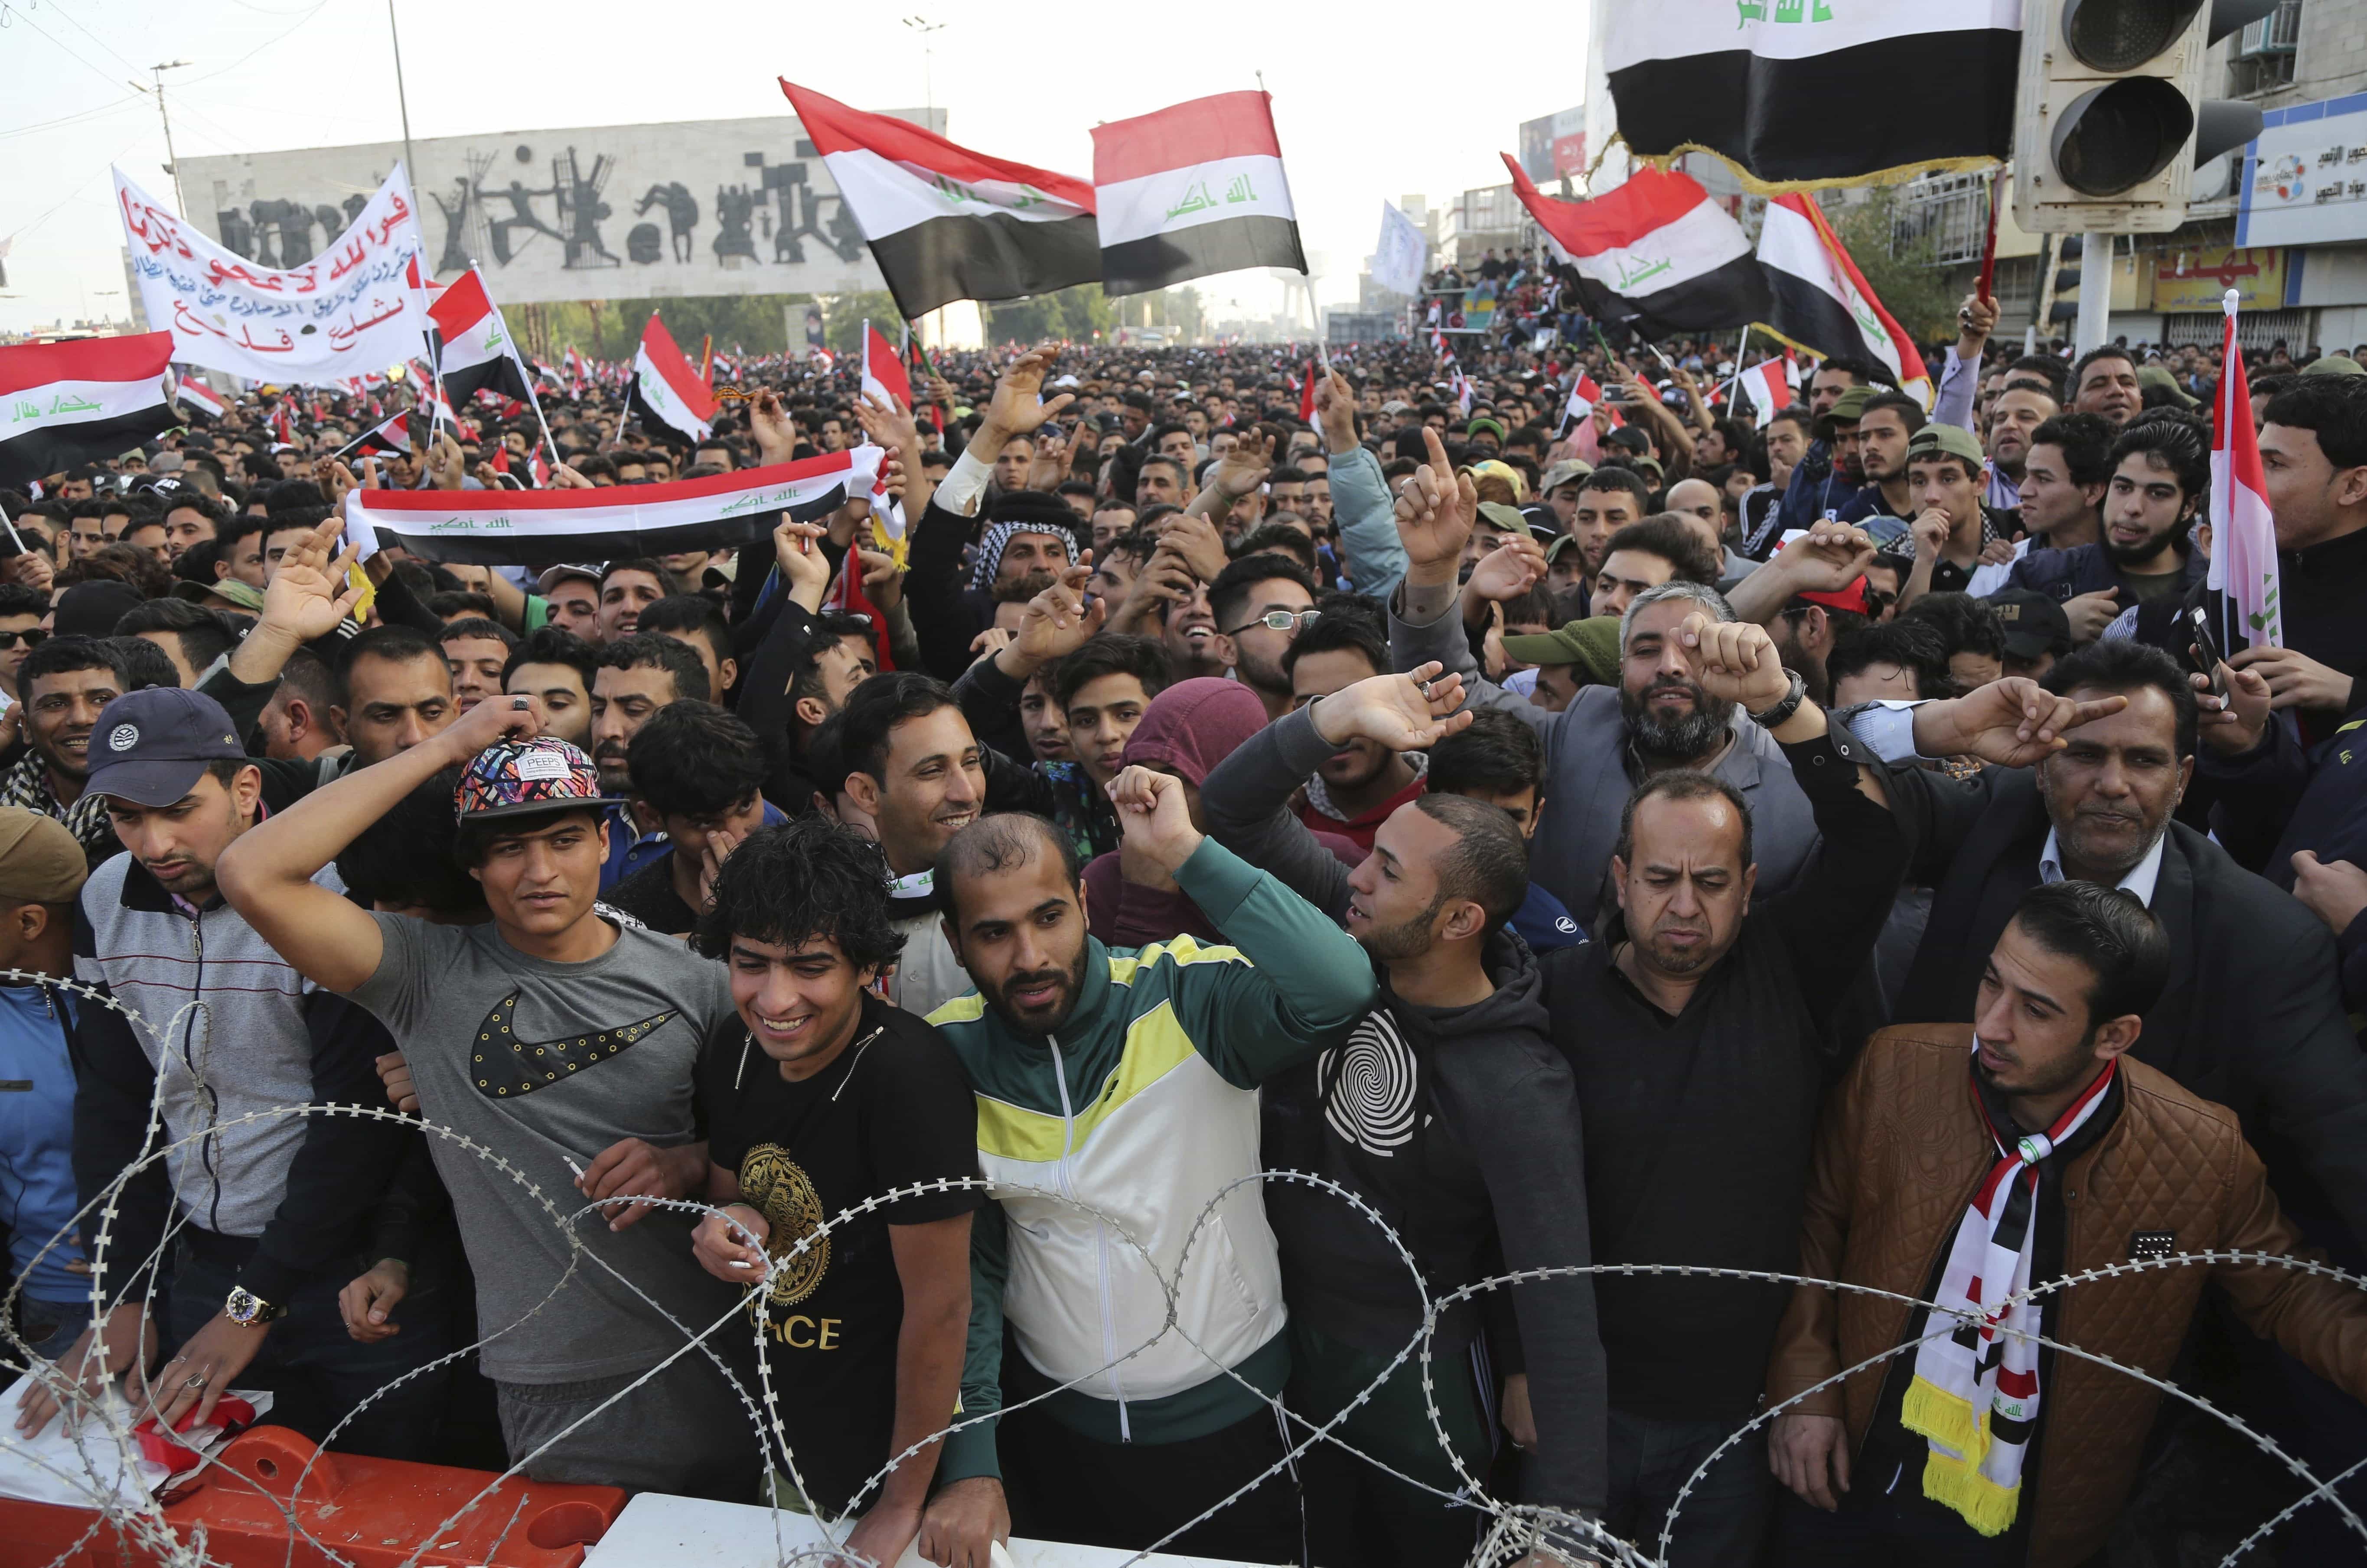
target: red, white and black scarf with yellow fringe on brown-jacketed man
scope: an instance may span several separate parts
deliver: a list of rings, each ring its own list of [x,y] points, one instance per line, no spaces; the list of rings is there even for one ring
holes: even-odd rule
[[[1955,1227],[1901,1410],[1905,1428],[1931,1443],[1924,1497],[1955,1509],[1981,1535],[2012,1528],[2021,1507],[2021,1457],[2038,1431],[2040,1308],[2026,1291],[2040,1161],[2095,1116],[2118,1071],[2118,1062],[2107,1062],[2055,1126],[2012,1145],[1981,1107],[1998,1164]],[[1974,1104],[1981,1104],[1979,1090]],[[1950,1320],[1955,1331],[1936,1334]]]

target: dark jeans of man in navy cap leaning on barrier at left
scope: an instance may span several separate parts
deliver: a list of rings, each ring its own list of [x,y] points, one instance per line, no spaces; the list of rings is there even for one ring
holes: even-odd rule
[[[267,1417],[272,1426],[294,1426],[322,1443],[338,1421],[353,1414],[336,1431],[331,1447],[379,1459],[428,1459],[452,1369],[438,1367],[405,1379],[400,1386],[395,1379],[454,1348],[450,1289],[405,1296],[402,1305],[395,1308],[395,1322],[402,1324],[402,1331],[365,1346],[346,1331],[346,1320],[336,1310],[336,1294],[350,1279],[350,1272],[331,1270],[298,1284],[286,1303],[289,1315],[270,1327],[263,1350],[234,1381],[239,1388],[272,1391]],[[232,1265],[201,1258],[189,1244],[180,1246],[173,1268],[173,1303],[166,1308],[163,1324],[168,1358],[220,1315],[232,1284],[237,1284]],[[386,1393],[381,1395],[381,1391]]]

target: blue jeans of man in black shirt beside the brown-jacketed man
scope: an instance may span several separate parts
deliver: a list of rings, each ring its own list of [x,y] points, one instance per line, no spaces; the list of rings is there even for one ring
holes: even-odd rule
[[[1643,1551],[1659,1551],[1659,1528],[1676,1490],[1735,1421],[1652,1421],[1612,1410],[1610,1499],[1602,1523]],[[1726,1450],[1690,1492],[1669,1535],[1669,1568],[1754,1568],[1766,1540],[1775,1478],[1766,1426]]]

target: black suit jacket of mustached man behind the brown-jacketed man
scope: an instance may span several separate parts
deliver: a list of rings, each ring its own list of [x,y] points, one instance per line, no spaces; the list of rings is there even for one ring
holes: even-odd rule
[[[1962,1024],[2014,903],[2038,887],[2052,823],[2029,769],[1972,780],[1910,769],[1891,799],[1915,842],[1908,880],[1934,889],[1894,1022]],[[2244,1121],[2289,1211],[2331,1206],[2367,1242],[2367,1052],[2343,1017],[2334,939],[2178,821],[2152,908],[2171,984],[2145,1015],[2137,1057]]]

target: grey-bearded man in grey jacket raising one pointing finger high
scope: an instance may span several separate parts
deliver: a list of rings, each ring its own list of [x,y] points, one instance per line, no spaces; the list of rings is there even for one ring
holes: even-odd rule
[[[1472,702],[1515,714],[1543,740],[1546,799],[1529,875],[1584,920],[1602,903],[1628,790],[1652,773],[1685,769],[1716,773],[1742,792],[1754,816],[1759,882],[1766,892],[1789,887],[1815,849],[1808,797],[1766,728],[1702,688],[1695,650],[1678,636],[1692,613],[1735,620],[1718,591],[1666,582],[1638,594],[1619,620],[1619,688],[1584,686],[1569,707],[1550,712],[1479,679],[1456,615],[1456,561],[1475,513],[1470,475],[1456,475],[1432,440],[1430,464],[1397,499],[1411,565],[1404,603],[1389,615],[1389,660],[1399,669],[1437,660],[1463,676]]]

